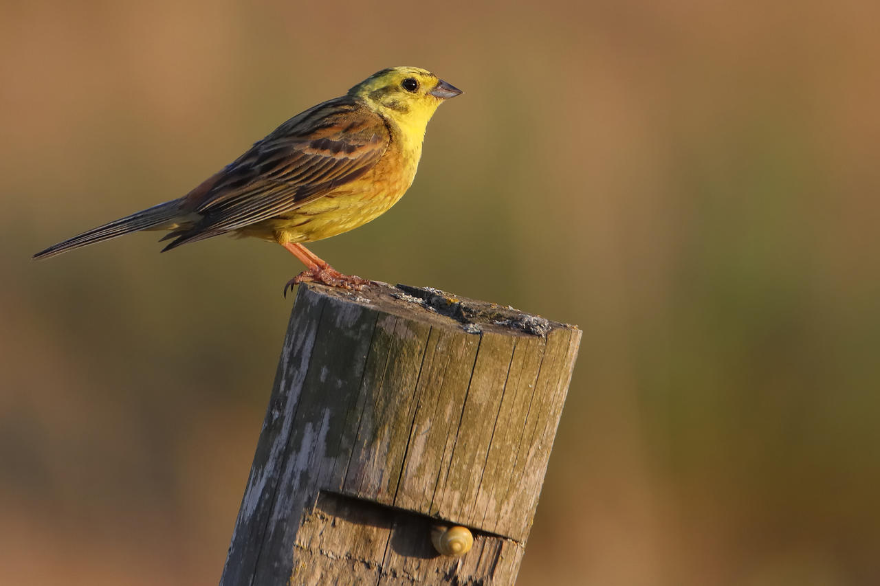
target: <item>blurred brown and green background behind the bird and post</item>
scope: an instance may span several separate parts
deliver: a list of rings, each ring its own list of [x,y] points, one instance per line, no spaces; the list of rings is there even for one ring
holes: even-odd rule
[[[0,4],[0,568],[212,584],[301,267],[146,233],[306,107],[466,93],[343,271],[583,329],[519,584],[880,583],[880,4]]]

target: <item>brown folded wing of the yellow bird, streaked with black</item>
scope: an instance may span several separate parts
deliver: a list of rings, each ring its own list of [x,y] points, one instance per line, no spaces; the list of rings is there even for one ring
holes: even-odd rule
[[[298,114],[187,194],[201,216],[165,250],[280,216],[368,172],[390,141],[382,118],[346,96]]]

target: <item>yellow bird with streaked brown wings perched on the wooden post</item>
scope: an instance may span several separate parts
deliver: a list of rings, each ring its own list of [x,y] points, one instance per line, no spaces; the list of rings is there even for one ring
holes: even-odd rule
[[[221,234],[282,245],[306,269],[284,285],[344,289],[344,275],[303,243],[353,230],[384,214],[413,184],[428,121],[461,92],[417,67],[378,71],[339,98],[312,106],[188,194],[121,217],[33,255],[57,254],[136,231],[164,230],[162,252]]]

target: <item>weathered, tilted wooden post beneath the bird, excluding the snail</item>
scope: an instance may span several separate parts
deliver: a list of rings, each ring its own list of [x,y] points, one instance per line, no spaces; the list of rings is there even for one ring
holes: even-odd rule
[[[301,285],[221,586],[515,582],[580,338],[436,289]],[[442,523],[473,549],[437,554]]]

